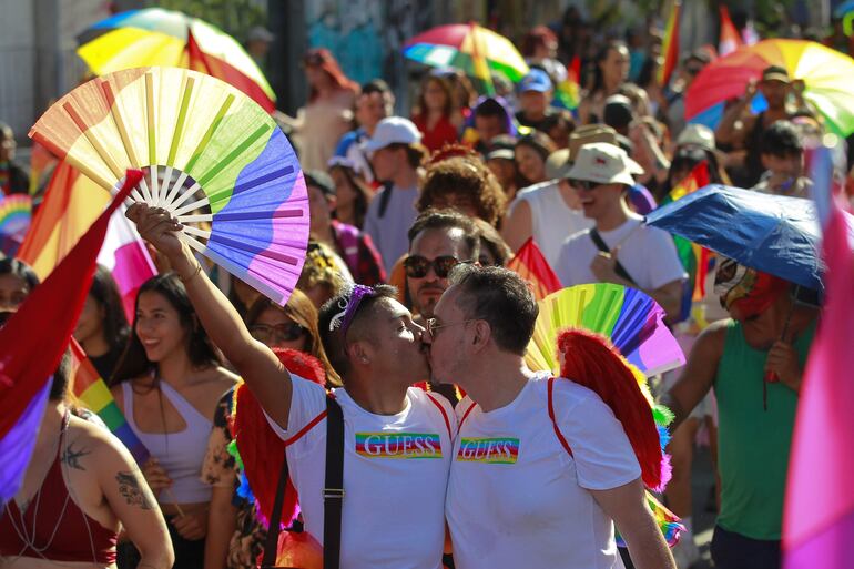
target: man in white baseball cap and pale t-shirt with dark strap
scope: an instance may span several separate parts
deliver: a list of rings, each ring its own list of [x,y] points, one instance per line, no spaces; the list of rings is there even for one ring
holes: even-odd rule
[[[389,116],[379,121],[365,144],[374,173],[384,186],[368,205],[364,231],[383,256],[387,274],[406,254],[406,234],[417,215],[418,169],[427,155],[420,141],[421,133],[411,121]]]

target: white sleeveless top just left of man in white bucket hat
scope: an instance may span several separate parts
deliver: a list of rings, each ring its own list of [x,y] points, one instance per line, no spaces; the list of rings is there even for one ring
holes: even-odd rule
[[[531,209],[533,241],[551,267],[557,265],[560,247],[569,235],[593,226],[592,220],[567,205],[557,180],[520,191],[510,204],[511,213],[519,202],[528,202]]]

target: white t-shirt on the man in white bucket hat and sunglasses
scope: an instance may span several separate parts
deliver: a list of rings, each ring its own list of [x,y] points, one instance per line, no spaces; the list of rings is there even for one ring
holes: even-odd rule
[[[618,261],[642,289],[654,291],[673,281],[688,278],[673,237],[663,230],[650,227],[640,216],[632,214],[616,230],[600,231],[599,235],[608,248],[620,246]],[[599,282],[590,270],[590,263],[598,254],[599,248],[590,238],[590,230],[569,237],[560,250],[555,267],[560,283],[575,286]]]

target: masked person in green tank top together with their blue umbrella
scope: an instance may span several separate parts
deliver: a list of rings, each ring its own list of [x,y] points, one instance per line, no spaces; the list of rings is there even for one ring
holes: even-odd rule
[[[700,334],[661,403],[675,429],[714,387],[721,508],[712,558],[722,569],[777,568],[795,408],[823,289],[815,207],[711,185],[647,223],[721,255],[715,294],[730,318]]]

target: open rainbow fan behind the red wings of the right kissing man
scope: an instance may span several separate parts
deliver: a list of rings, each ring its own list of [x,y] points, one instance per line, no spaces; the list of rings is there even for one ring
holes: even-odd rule
[[[647,377],[675,369],[685,356],[664,326],[664,311],[634,288],[596,283],[552,293],[539,302],[540,315],[525,359],[531,369],[560,372],[558,333],[586,328],[607,336]]]

